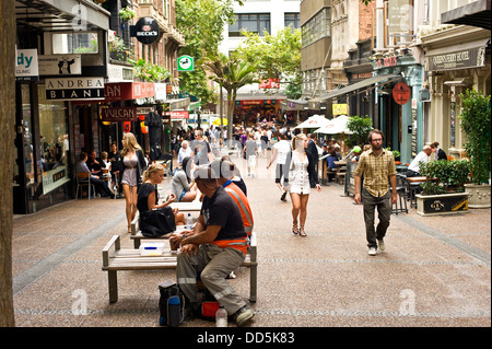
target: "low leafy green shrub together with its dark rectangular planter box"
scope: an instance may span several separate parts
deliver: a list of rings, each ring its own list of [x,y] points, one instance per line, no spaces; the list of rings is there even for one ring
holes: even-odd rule
[[[465,160],[421,162],[419,172],[426,177],[417,195],[417,212],[421,216],[449,214],[468,211],[468,193],[471,163]]]

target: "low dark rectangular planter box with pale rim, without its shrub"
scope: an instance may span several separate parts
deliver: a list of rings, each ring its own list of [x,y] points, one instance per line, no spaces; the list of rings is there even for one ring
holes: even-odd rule
[[[420,216],[468,212],[468,193],[442,195],[415,195],[417,213]]]

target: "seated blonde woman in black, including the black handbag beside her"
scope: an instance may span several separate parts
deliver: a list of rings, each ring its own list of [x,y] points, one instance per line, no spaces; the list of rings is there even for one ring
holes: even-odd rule
[[[185,214],[168,206],[176,199],[174,194],[171,194],[164,203],[159,203],[156,185],[163,179],[164,166],[152,164],[143,173],[143,183],[138,190],[137,208],[140,212],[140,230],[145,236],[161,236],[174,232],[176,225],[186,224]]]

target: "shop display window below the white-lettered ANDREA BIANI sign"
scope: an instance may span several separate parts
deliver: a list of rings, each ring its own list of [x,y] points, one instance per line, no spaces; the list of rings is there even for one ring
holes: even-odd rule
[[[47,101],[45,85],[38,85],[39,146],[38,161],[43,194],[70,181],[68,171],[69,136],[65,102]]]

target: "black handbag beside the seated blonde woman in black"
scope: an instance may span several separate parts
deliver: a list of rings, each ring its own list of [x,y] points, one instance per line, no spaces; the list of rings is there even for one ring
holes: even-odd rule
[[[143,236],[157,237],[176,230],[173,209],[168,206],[140,213],[140,230]]]

